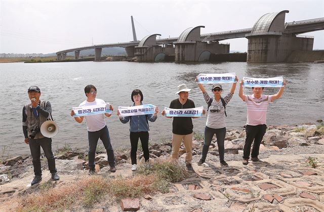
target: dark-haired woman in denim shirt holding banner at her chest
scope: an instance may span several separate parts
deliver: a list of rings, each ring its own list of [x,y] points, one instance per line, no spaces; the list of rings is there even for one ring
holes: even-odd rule
[[[143,94],[139,89],[135,89],[131,94],[133,104],[130,107],[119,107],[117,115],[121,123],[127,123],[130,121],[130,140],[131,140],[131,160],[132,171],[137,169],[137,145],[138,139],[141,140],[144,161],[149,161],[149,126],[148,120],[154,122],[157,118],[158,108],[153,105],[145,105],[143,103]],[[155,109],[154,109],[155,108]],[[138,115],[136,115],[138,113]]]

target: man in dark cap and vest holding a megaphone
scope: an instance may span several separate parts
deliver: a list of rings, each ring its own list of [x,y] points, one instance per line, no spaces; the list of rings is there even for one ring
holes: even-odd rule
[[[22,110],[22,129],[25,136],[25,143],[29,144],[32,164],[34,166],[35,177],[31,181],[31,185],[39,183],[42,180],[41,147],[43,148],[44,154],[47,158],[52,179],[55,181],[60,180],[60,177],[57,175],[55,158],[52,152],[51,137],[54,135],[51,136],[50,134],[46,134],[44,130],[41,132],[42,124],[52,117],[51,103],[49,101],[39,100],[39,97],[41,97],[41,90],[37,86],[29,87],[28,97],[30,103],[26,104]],[[47,129],[51,131],[52,129],[57,128],[57,131],[58,127],[55,122],[51,124]]]

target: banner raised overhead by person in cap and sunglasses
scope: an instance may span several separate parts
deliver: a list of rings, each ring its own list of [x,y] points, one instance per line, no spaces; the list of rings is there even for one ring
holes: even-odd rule
[[[197,83],[213,84],[213,83],[233,83],[235,82],[235,73],[200,73],[197,76]]]

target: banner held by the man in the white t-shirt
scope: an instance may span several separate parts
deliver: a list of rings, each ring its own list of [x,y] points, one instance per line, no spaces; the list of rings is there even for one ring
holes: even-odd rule
[[[100,105],[89,105],[83,107],[72,107],[74,111],[73,117],[77,116],[86,116],[86,115],[95,115],[100,113],[109,113],[111,114],[112,111],[109,109],[110,104],[106,102],[106,104]]]

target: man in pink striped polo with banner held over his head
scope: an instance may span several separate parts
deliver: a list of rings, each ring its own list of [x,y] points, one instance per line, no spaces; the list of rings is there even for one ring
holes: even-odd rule
[[[247,124],[246,124],[246,140],[243,150],[242,163],[249,163],[251,146],[251,160],[254,162],[262,162],[258,158],[259,148],[263,136],[266,132],[266,118],[268,104],[275,99],[281,97],[287,82],[282,77],[274,78],[250,78],[243,77],[239,83],[238,96],[247,104]],[[243,87],[252,88],[252,95],[244,95]],[[274,95],[262,95],[264,87],[280,87],[279,91]]]

